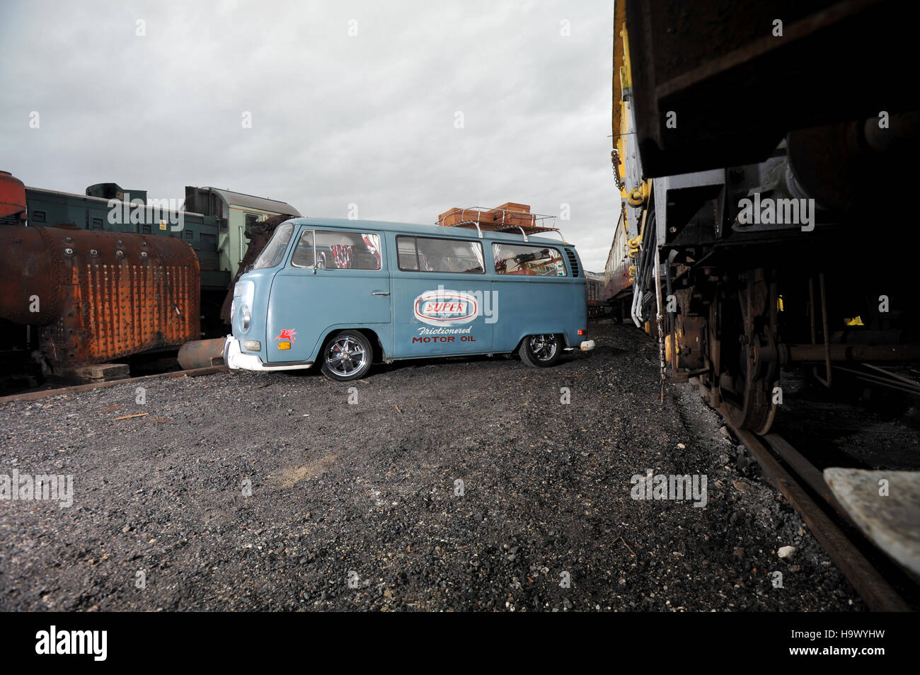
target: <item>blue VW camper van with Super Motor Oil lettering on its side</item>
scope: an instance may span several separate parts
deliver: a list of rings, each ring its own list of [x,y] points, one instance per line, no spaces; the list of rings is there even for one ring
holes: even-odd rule
[[[296,218],[236,282],[224,362],[318,364],[335,381],[374,362],[517,351],[551,366],[594,348],[574,246],[478,227]]]

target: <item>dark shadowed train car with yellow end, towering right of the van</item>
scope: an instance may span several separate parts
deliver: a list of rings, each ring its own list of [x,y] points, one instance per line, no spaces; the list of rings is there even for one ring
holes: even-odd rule
[[[878,364],[920,359],[920,89],[902,11],[615,4],[630,314],[652,333],[661,320],[674,376],[736,426],[770,429],[786,369],[897,389]]]

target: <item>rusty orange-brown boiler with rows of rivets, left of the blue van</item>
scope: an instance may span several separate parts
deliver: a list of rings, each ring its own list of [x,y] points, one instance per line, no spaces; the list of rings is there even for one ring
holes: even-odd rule
[[[178,237],[6,225],[0,266],[0,317],[39,326],[52,369],[201,337],[199,262]]]

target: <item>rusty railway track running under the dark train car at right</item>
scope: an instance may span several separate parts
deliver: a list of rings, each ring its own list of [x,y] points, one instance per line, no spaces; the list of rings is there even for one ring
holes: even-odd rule
[[[703,392],[707,389],[697,378],[690,378],[690,383]],[[868,609],[872,612],[913,611],[902,589],[905,586],[913,589],[914,581],[883,559],[884,554],[857,531],[825,483],[821,470],[782,436],[776,433],[758,435],[733,424],[726,405],[719,408],[719,415],[751,452],[770,485],[799,512],[814,538]],[[898,578],[898,588],[889,581],[891,577]]]

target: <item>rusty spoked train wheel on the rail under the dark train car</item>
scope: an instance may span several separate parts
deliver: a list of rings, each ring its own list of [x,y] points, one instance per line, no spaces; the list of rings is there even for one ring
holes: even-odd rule
[[[730,422],[765,434],[776,417],[776,284],[755,269],[719,307],[719,399]]]

